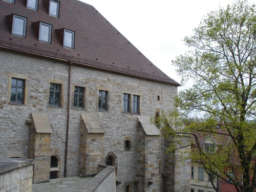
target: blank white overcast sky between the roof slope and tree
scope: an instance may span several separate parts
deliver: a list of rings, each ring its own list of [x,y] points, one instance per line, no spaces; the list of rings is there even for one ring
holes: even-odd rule
[[[234,0],[82,1],[94,6],[154,65],[180,82],[172,60],[185,52],[184,37],[193,34],[209,11],[231,5]]]

